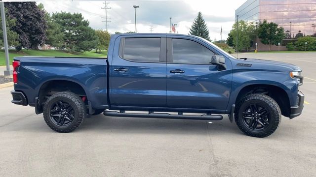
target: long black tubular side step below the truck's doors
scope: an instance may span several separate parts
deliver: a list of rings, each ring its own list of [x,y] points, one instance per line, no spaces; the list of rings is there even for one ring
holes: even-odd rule
[[[138,114],[138,113],[125,113],[123,111],[104,111],[105,116],[112,117],[131,117],[131,118],[174,118],[174,119],[195,119],[195,120],[221,120],[223,119],[222,115],[201,115],[201,116],[191,116],[191,115],[171,115],[168,113],[153,113],[149,114]]]

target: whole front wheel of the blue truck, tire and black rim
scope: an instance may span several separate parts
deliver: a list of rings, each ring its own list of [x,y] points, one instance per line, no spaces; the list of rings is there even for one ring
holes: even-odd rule
[[[270,96],[250,94],[237,103],[235,121],[244,134],[263,138],[276,131],[281,110]]]

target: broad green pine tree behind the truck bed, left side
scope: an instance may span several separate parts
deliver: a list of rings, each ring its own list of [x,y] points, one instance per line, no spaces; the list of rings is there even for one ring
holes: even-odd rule
[[[56,12],[52,14],[52,19],[59,24],[64,33],[65,46],[70,51],[90,51],[97,46],[95,31],[81,13]]]

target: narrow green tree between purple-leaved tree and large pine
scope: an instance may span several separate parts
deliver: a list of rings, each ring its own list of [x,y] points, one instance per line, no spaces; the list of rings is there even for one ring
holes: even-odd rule
[[[45,12],[45,21],[47,22],[47,39],[45,43],[53,47],[61,48],[64,45],[64,33],[61,26],[51,18],[47,11],[45,11],[42,3],[40,3],[38,7]]]

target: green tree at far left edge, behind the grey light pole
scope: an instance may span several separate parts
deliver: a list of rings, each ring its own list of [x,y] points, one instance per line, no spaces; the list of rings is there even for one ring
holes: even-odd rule
[[[11,19],[8,15],[7,9],[5,9],[5,24],[6,24],[6,35],[9,46],[17,46],[19,44],[19,35],[15,31],[11,30],[15,26],[15,19]],[[0,14],[0,24],[2,23]],[[2,25],[0,26],[0,47],[3,47],[3,30]]]

